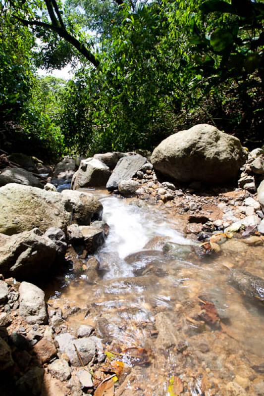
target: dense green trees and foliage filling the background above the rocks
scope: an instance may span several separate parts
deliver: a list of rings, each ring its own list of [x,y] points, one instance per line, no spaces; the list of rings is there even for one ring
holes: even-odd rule
[[[262,1],[1,1],[0,19],[8,151],[152,149],[196,123],[263,144]]]

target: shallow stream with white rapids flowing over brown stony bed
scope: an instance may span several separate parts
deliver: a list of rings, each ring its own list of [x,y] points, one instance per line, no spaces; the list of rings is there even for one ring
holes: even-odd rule
[[[233,238],[217,256],[201,258],[168,209],[97,194],[110,227],[99,268],[71,269],[49,293],[62,310],[82,309],[68,318],[70,331],[91,324],[109,350],[146,349],[147,361],[122,357],[132,371],[116,395],[259,395],[264,310],[228,275],[240,268],[264,278],[263,247]],[[163,253],[166,241],[179,245],[176,255]]]

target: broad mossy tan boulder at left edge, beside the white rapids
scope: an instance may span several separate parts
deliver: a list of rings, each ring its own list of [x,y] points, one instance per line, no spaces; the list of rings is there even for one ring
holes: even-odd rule
[[[61,194],[15,183],[0,188],[0,233],[12,235],[34,227],[66,230],[72,206]]]

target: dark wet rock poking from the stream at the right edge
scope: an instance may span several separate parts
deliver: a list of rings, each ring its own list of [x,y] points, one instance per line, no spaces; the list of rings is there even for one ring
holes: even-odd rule
[[[264,301],[264,279],[247,271],[231,270],[228,280],[247,297]]]

